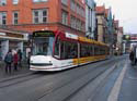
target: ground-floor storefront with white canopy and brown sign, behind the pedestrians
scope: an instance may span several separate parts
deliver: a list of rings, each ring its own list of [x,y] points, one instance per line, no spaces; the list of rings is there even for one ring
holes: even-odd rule
[[[24,52],[24,42],[27,42],[28,34],[0,29],[0,60],[3,60],[9,50]]]

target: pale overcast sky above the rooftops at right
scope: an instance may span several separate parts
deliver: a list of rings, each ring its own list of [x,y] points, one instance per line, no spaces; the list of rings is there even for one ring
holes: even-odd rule
[[[137,0],[95,0],[98,5],[112,7],[112,12],[125,33],[137,34]]]

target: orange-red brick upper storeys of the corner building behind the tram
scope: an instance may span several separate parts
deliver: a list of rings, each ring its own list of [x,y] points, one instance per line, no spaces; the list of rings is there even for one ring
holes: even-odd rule
[[[83,0],[0,0],[0,25],[18,30],[62,30],[84,36]]]

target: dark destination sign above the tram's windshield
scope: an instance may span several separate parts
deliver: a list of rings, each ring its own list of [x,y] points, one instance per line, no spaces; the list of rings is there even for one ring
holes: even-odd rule
[[[52,30],[39,30],[39,31],[34,31],[33,37],[54,37],[55,34]]]

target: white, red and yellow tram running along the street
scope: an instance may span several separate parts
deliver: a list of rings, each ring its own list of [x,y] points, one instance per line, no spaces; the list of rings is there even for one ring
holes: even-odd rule
[[[62,71],[109,56],[105,43],[69,33],[38,30],[32,35],[31,71]]]

